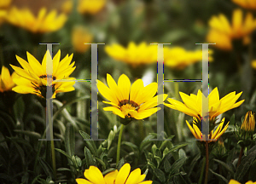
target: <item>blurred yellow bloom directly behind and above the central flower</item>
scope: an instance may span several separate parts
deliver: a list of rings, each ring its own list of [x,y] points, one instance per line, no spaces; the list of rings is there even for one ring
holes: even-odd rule
[[[128,63],[131,66],[149,64],[157,60],[157,45],[149,45],[145,42],[138,45],[131,42],[127,49],[114,43],[111,46],[106,46],[105,51],[114,60]]]

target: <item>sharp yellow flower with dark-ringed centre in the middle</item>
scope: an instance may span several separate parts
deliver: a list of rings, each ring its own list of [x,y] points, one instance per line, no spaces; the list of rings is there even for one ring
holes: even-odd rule
[[[112,105],[104,107],[104,111],[112,111],[121,118],[143,119],[160,110],[160,107],[154,107],[158,104],[158,96],[154,96],[157,83],[150,83],[144,87],[143,80],[137,79],[131,85],[130,79],[125,74],[119,77],[118,84],[108,74],[107,82],[109,88],[101,81],[97,81],[99,92],[110,101],[103,102]],[[160,97],[165,101],[167,95]]]

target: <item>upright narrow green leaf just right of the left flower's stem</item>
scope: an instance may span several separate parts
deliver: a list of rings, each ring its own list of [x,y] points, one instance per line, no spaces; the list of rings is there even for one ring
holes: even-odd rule
[[[65,147],[67,154],[72,157],[74,155],[75,149],[75,137],[74,129],[72,124],[67,124],[65,132]]]

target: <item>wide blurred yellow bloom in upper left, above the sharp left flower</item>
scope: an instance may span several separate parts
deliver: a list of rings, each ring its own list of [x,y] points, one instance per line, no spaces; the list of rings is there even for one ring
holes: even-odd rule
[[[52,10],[46,14],[46,9],[40,9],[38,17],[35,17],[29,9],[16,9],[15,7],[9,10],[6,18],[9,23],[20,26],[33,33],[55,32],[64,25],[67,20],[65,14],[57,15],[56,10]]]

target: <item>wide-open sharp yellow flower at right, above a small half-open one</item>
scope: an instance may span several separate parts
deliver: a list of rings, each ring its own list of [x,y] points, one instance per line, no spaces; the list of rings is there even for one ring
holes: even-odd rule
[[[233,91],[229,95],[225,95],[222,99],[219,100],[218,88],[213,89],[210,95],[208,95],[210,120],[217,117],[219,114],[240,106],[244,100],[238,102],[236,101],[241,96],[241,93],[242,92],[236,94],[236,92]],[[190,94],[189,96],[183,92],[179,92],[179,95],[181,96],[184,103],[168,98],[167,101],[169,101],[171,104],[164,104],[172,109],[184,112],[189,116],[201,119],[202,96],[206,98],[204,95],[202,95],[201,90],[198,90],[197,95]]]

